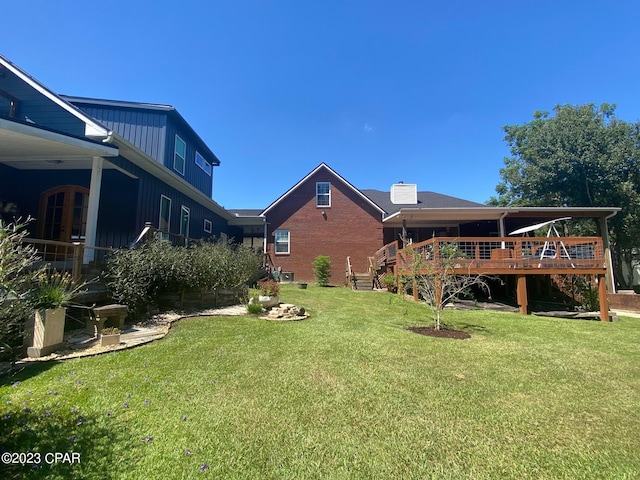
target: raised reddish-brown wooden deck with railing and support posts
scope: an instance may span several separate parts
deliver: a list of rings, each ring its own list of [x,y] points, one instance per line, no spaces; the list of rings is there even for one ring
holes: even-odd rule
[[[443,248],[455,247],[453,259],[443,258]],[[520,312],[528,308],[526,276],[580,274],[597,279],[600,317],[609,320],[605,276],[607,262],[600,237],[435,237],[399,248],[398,242],[382,247],[375,255],[378,269],[394,274],[414,273],[420,256],[422,274],[451,268],[462,275],[514,275]]]

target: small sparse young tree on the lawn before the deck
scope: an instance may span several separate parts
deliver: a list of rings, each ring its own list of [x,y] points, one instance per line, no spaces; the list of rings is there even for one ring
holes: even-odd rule
[[[469,294],[473,286],[487,294],[490,292],[488,282],[491,277],[459,272],[460,260],[465,254],[455,242],[439,244],[439,252],[413,250],[409,255],[412,259],[410,279],[420,297],[431,307],[436,330],[442,326],[442,310],[450,300]]]

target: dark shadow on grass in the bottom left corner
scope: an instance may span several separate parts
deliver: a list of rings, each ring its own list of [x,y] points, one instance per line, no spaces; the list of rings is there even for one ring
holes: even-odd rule
[[[124,467],[114,447],[139,447],[131,437],[108,415],[12,405],[0,418],[3,478],[120,478]]]

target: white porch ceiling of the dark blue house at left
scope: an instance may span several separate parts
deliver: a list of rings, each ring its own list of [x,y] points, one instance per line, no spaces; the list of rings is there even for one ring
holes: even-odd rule
[[[28,169],[91,168],[93,157],[115,157],[118,149],[0,118],[0,163]]]

